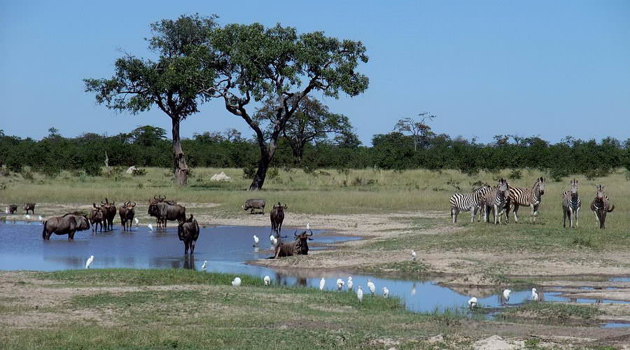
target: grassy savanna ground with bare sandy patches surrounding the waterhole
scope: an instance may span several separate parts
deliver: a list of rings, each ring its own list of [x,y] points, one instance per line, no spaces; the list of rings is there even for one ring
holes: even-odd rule
[[[137,202],[137,217],[151,222],[148,200],[165,195],[202,225],[268,226],[274,202],[287,204],[284,228],[306,223],[318,230],[364,239],[333,244],[279,260],[252,264],[319,276],[330,271],[388,278],[430,278],[465,295],[503,288],[554,290],[577,299],[630,301],[630,181],[626,171],[598,178],[546,179],[540,214],[530,222],[470,223],[461,213],[451,223],[449,197],[470,193],[501,177],[531,188],[546,174],[528,169],[462,174],[457,171],[382,169],[274,169],[265,190],[249,192],[241,169],[193,169],[188,186],[172,186],[172,172],[149,168],[144,176],[120,170],[104,176],[62,172],[55,178],[7,173],[0,205],[36,202],[36,215],[87,211],[105,197]],[[225,172],[232,181],[210,181]],[[27,176],[25,176],[27,174]],[[562,227],[561,195],[570,179],[580,183],[579,228]],[[596,228],[589,204],[597,184],[615,204],[605,230]],[[241,205],[267,200],[265,215]],[[512,215],[512,214],[510,214]],[[6,217],[3,217],[6,218]],[[115,225],[119,225],[116,218]],[[173,225],[173,224],[171,224]],[[88,231],[77,235],[87,235]],[[200,237],[203,239],[203,237]],[[410,252],[417,252],[412,262]],[[483,306],[414,313],[396,297],[367,297],[313,288],[264,286],[262,280],[184,269],[90,269],[0,272],[0,347],[11,348],[226,348],[226,349],[468,349],[487,344],[537,349],[603,349],[630,346],[630,322],[622,303],[526,303],[486,317]],[[497,337],[500,337],[498,339]],[[485,342],[485,343],[484,343]]]

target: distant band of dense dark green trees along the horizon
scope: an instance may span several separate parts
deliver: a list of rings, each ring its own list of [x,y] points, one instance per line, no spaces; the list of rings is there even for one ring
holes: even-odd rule
[[[14,172],[25,166],[55,176],[63,169],[100,174],[105,152],[110,166],[172,167],[172,145],[159,127],[139,127],[129,134],[103,136],[86,133],[66,138],[51,128],[48,137],[36,141],[6,136],[0,131],[0,165]],[[557,144],[538,137],[498,135],[491,144],[430,134],[414,139],[399,132],[377,134],[372,147],[360,146],[356,139],[335,138],[307,144],[298,160],[284,140],[272,162],[273,167],[382,169],[459,169],[468,174],[479,170],[531,168],[548,171],[559,179],[568,174],[605,176],[612,169],[630,169],[630,139],[601,141],[567,137]],[[205,132],[183,140],[188,163],[194,167],[240,167],[255,171],[259,148],[240,134]],[[253,170],[252,170],[253,169]],[[194,170],[193,170],[194,172]]]

